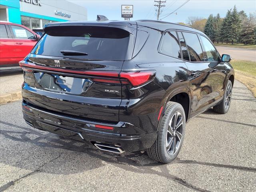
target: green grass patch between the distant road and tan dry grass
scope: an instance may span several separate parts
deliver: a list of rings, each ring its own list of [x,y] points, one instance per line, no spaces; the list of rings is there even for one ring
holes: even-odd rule
[[[240,70],[256,76],[256,62],[231,60],[230,64],[233,66],[235,70]]]

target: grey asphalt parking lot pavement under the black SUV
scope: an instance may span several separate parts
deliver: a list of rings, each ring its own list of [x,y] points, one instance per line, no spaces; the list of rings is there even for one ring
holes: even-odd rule
[[[0,191],[202,191],[256,189],[256,99],[236,81],[230,111],[192,118],[178,158],[104,153],[36,130],[21,103],[0,106]]]

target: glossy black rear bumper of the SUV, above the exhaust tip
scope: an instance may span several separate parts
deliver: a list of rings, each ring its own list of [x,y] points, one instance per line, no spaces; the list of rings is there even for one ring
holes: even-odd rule
[[[118,122],[116,124],[92,122],[48,112],[24,102],[22,103],[22,111],[26,122],[34,128],[53,132],[88,144],[101,142],[118,145],[123,150],[130,152],[150,148],[158,135],[158,132],[144,132],[144,130],[128,122]],[[112,126],[114,129],[94,128],[90,126],[91,124]]]

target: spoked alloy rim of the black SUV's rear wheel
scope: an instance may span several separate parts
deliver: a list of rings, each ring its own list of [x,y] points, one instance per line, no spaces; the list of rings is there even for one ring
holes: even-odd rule
[[[170,155],[174,155],[180,148],[183,134],[183,118],[180,112],[176,112],[168,125],[166,134],[166,150]]]

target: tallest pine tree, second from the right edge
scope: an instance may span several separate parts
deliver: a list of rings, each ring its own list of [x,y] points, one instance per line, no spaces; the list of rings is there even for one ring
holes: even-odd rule
[[[240,16],[238,14],[236,6],[234,6],[233,11],[231,12],[230,41],[232,44],[234,44],[234,42],[238,42],[240,29],[241,29]]]

